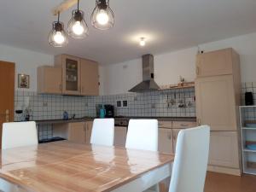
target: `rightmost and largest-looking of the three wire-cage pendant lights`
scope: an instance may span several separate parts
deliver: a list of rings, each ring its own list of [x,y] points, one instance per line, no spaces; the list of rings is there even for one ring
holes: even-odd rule
[[[113,27],[113,11],[109,7],[109,0],[96,0],[96,8],[90,19],[91,25],[96,29],[107,30]]]

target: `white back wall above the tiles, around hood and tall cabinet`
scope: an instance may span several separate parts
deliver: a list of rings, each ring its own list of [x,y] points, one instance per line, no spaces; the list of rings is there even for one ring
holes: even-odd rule
[[[201,44],[204,51],[234,48],[241,57],[241,82],[256,82],[256,33]],[[195,80],[197,47],[154,55],[154,75],[157,84],[176,84],[179,75]],[[124,67],[126,66],[126,67]],[[125,93],[142,80],[141,59],[102,67],[102,95]]]

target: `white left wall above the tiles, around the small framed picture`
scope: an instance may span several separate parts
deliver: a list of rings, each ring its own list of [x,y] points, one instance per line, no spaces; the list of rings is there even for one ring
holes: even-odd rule
[[[0,61],[15,62],[16,90],[18,74],[25,73],[30,76],[30,88],[24,90],[37,91],[37,68],[42,65],[53,65],[54,56],[0,44]]]

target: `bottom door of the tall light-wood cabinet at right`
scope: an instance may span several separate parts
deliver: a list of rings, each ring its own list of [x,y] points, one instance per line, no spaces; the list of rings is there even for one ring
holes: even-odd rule
[[[211,131],[208,164],[239,168],[236,131]]]

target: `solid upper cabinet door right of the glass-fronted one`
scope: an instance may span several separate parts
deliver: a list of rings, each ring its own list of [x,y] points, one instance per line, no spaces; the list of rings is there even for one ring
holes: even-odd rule
[[[83,96],[99,95],[99,72],[95,61],[81,59],[81,94]]]

